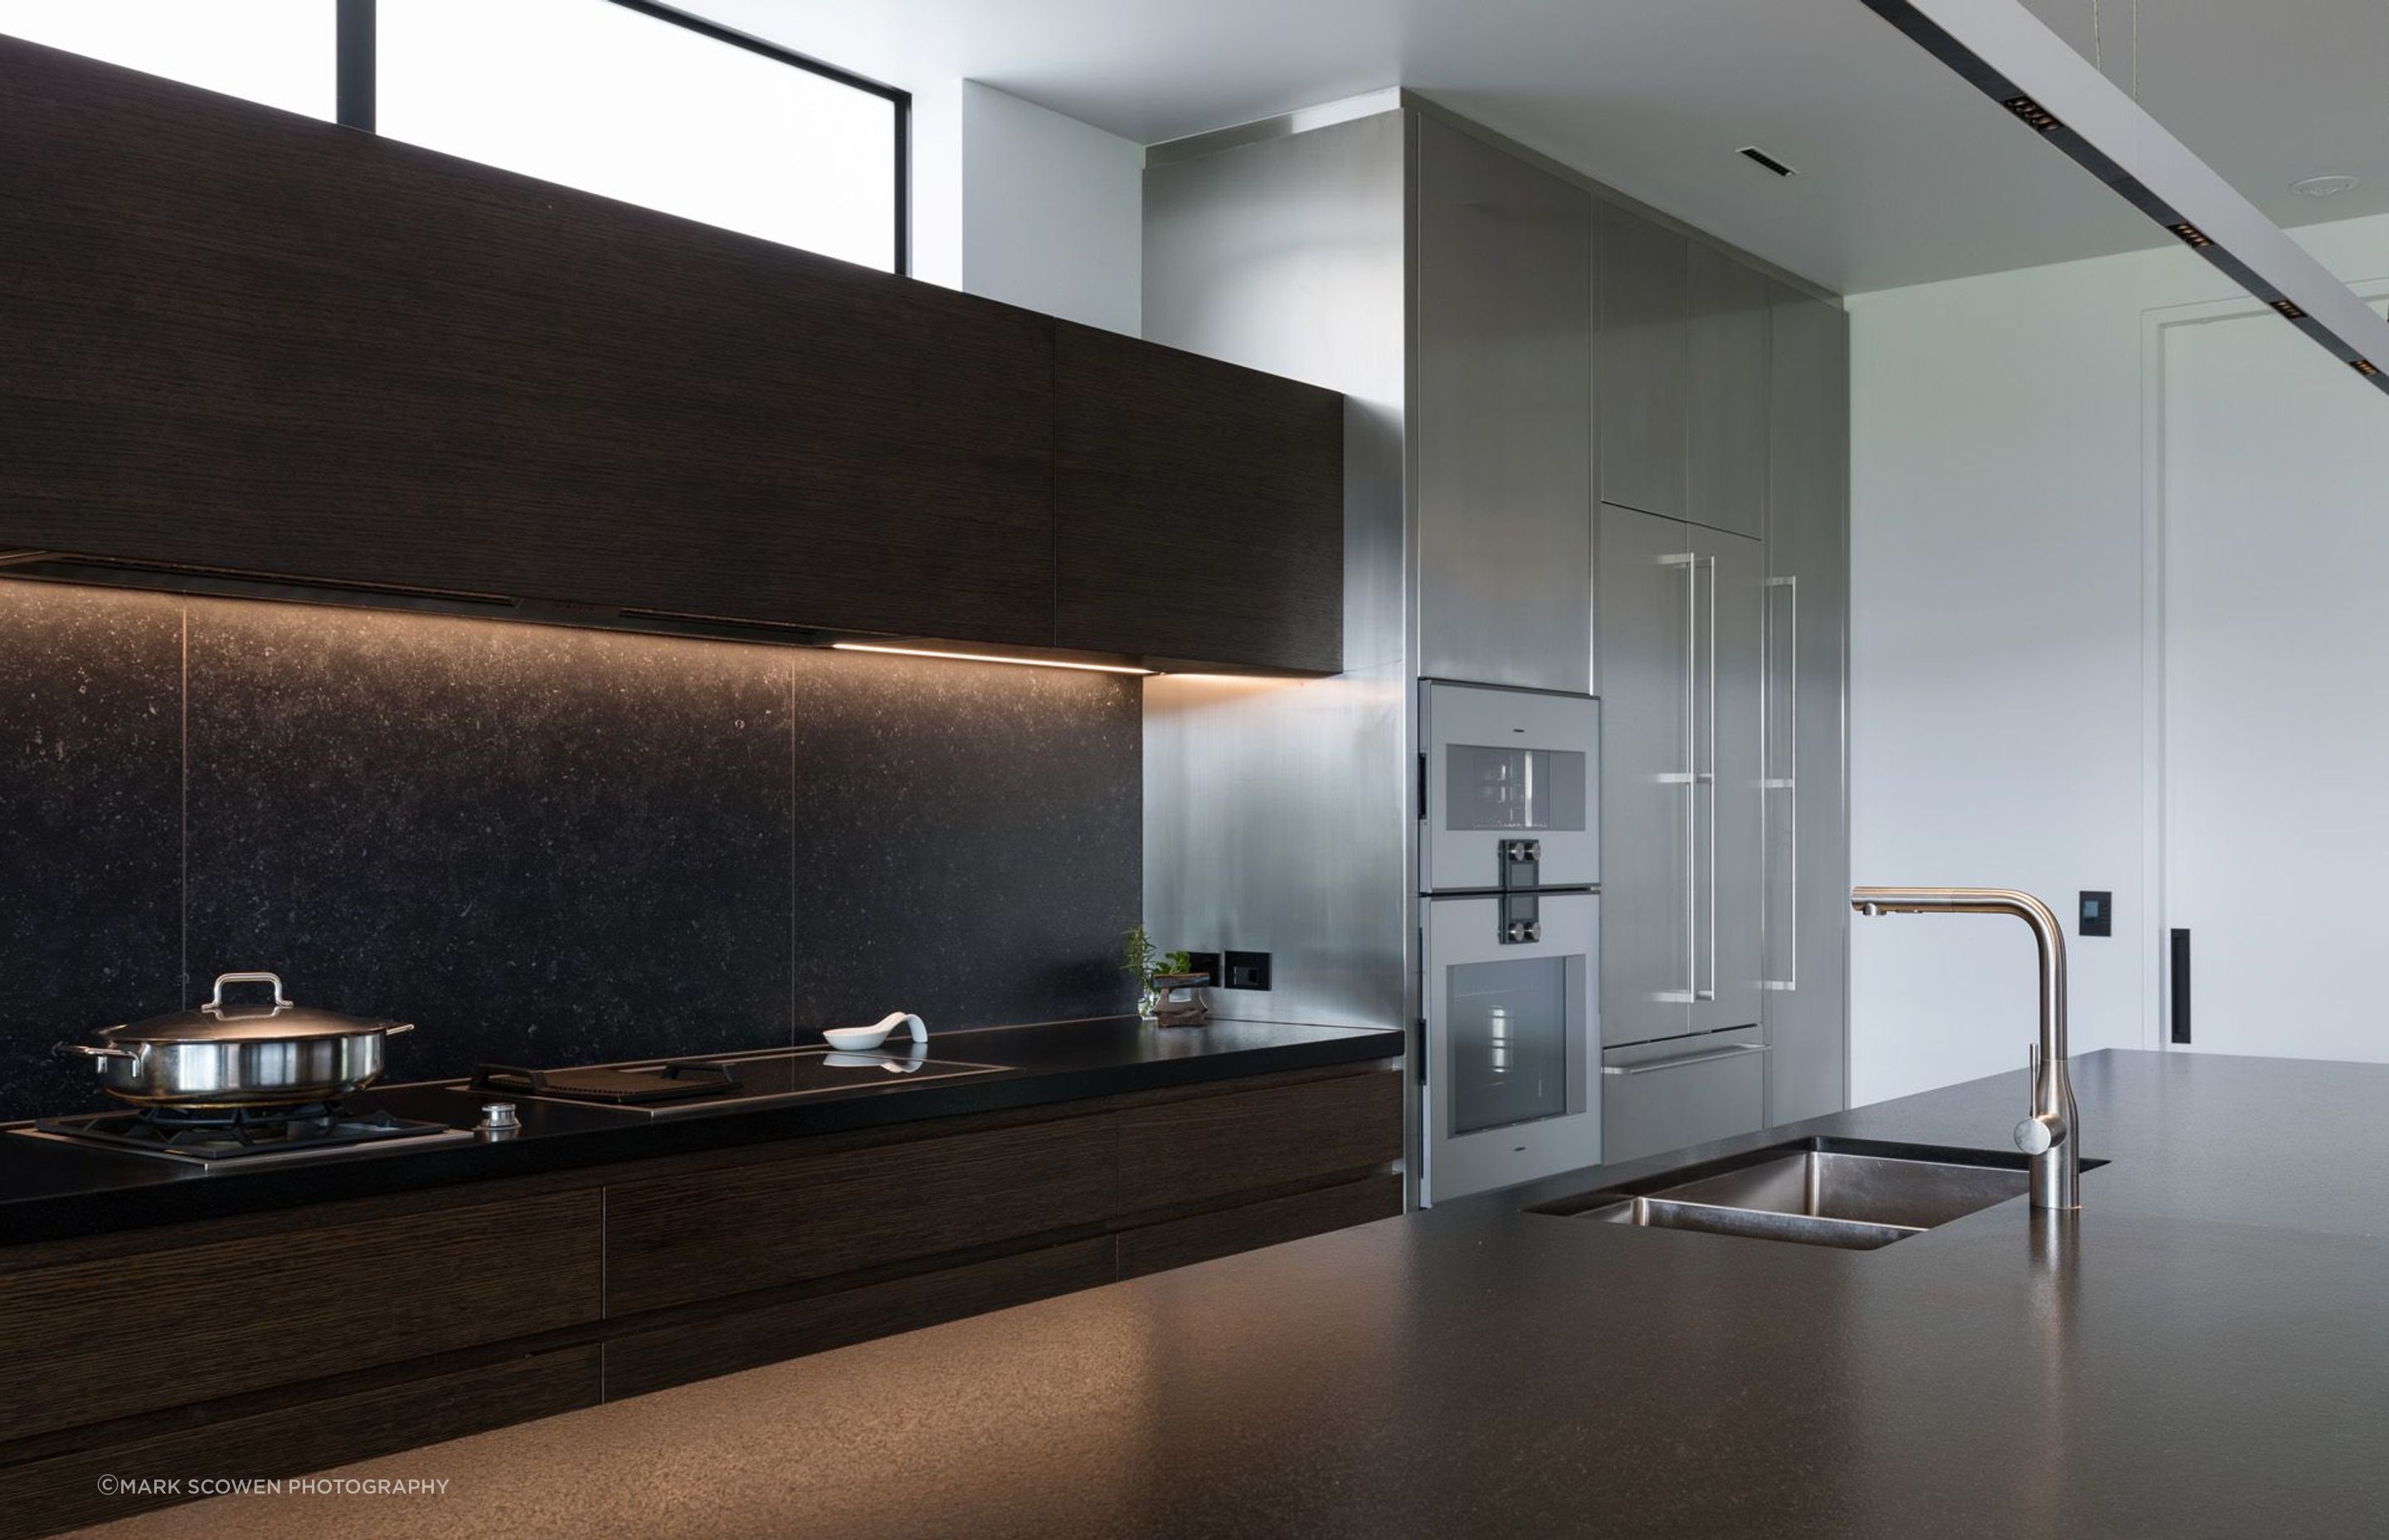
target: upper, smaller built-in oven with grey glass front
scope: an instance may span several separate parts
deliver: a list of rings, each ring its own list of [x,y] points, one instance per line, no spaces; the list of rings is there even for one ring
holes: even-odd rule
[[[1419,744],[1421,892],[1601,882],[1598,701],[1436,679],[1419,686]]]

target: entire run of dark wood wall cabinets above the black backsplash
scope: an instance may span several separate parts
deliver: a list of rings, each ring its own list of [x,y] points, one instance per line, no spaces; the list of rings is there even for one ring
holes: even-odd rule
[[[1340,662],[1331,392],[7,38],[0,117],[0,548]]]

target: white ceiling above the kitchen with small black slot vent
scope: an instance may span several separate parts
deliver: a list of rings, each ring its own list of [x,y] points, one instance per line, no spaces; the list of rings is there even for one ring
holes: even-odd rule
[[[979,79],[1144,143],[1412,86],[1844,294],[2167,239],[1859,0],[688,2],[898,86]],[[2090,53],[2090,0],[2031,5]],[[2119,81],[2131,5],[2100,0]],[[2382,0],[2141,0],[2138,31],[2143,103],[2274,220],[2389,208]],[[2289,191],[2317,172],[2365,184]]]

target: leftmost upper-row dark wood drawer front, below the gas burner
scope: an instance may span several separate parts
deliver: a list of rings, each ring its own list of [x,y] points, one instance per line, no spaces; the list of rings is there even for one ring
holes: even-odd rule
[[[0,1442],[597,1318],[597,1193],[0,1275]]]

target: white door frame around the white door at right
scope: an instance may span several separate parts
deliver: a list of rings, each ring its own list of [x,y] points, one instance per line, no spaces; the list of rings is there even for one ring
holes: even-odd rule
[[[2389,277],[2348,282],[2360,299],[2389,299]],[[2141,311],[2141,1047],[2172,1050],[2167,1012],[2167,851],[2164,851],[2164,342],[2174,328],[2272,316],[2253,294],[2150,306]]]

